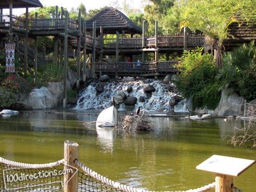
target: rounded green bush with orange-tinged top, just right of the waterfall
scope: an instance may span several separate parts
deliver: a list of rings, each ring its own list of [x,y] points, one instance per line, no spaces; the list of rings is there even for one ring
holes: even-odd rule
[[[191,97],[193,108],[215,109],[221,95],[215,82],[217,66],[212,55],[203,53],[202,47],[184,51],[176,67],[180,71],[177,89],[183,97]]]

